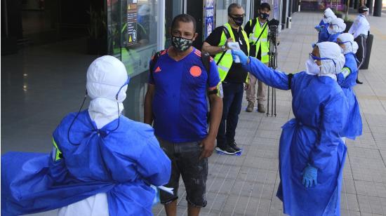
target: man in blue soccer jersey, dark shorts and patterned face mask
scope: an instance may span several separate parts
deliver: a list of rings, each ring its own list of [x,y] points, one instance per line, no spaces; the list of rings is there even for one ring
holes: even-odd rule
[[[153,123],[154,134],[172,161],[171,179],[165,186],[173,187],[174,194],[161,191],[160,196],[167,215],[176,214],[180,175],[188,214],[199,215],[206,206],[207,158],[213,153],[222,116],[218,69],[209,58],[206,71],[201,52],[192,47],[195,32],[192,16],[176,16],[171,26],[172,46],[150,63],[145,123]],[[206,95],[211,104],[209,130]]]

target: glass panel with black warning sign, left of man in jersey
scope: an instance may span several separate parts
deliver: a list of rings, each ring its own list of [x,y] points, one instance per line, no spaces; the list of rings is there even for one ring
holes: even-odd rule
[[[131,77],[124,102],[130,119],[143,119],[149,60],[157,51],[157,8],[157,0],[107,1],[108,52]]]

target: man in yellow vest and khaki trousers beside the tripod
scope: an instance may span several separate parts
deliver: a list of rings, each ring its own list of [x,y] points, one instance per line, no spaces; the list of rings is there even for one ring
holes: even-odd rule
[[[258,58],[261,62],[268,65],[269,62],[269,41],[268,41],[268,16],[271,7],[267,3],[260,4],[258,18],[249,20],[246,23],[245,31],[248,34],[249,44],[251,46],[251,56]],[[252,74],[249,74],[249,84],[246,88],[246,100],[248,107],[246,112],[253,112],[255,106],[255,85],[257,79]],[[258,112],[265,112],[264,102],[267,86],[262,81],[258,81]]]

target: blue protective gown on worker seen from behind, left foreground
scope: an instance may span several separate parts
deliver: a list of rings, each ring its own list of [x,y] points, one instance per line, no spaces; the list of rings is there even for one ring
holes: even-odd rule
[[[109,215],[152,215],[156,186],[166,184],[171,161],[150,126],[124,116],[97,130],[88,111],[62,120],[53,140],[62,152],[9,152],[1,157],[1,215],[24,215],[61,208],[107,193]]]

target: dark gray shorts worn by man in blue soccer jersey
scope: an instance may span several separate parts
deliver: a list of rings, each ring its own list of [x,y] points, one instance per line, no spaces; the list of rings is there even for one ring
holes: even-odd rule
[[[166,187],[173,187],[174,194],[160,191],[162,204],[178,199],[180,175],[185,184],[186,200],[195,207],[206,206],[206,178],[208,177],[208,158],[199,160],[199,142],[172,143],[157,137],[159,145],[171,159],[171,179]]]

